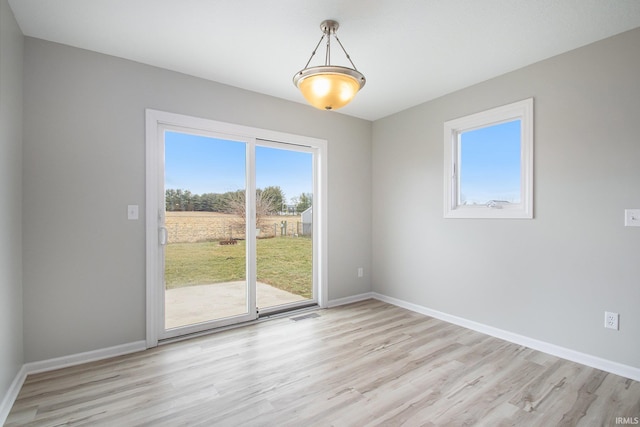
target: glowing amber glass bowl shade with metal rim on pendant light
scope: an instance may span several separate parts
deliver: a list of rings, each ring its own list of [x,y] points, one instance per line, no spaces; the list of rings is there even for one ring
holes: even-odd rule
[[[321,110],[337,110],[351,102],[366,80],[351,68],[320,66],[300,71],[293,82],[312,106]]]

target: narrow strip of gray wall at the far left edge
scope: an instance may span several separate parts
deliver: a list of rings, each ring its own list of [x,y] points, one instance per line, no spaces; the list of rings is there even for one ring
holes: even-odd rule
[[[23,39],[7,0],[0,0],[0,401],[23,362]]]

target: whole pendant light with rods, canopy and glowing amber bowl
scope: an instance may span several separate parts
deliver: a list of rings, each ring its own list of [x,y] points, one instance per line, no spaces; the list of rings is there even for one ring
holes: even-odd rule
[[[349,54],[338,39],[336,35],[338,27],[337,21],[330,19],[322,21],[320,41],[311,53],[307,65],[293,77],[293,84],[300,89],[307,102],[321,110],[337,110],[344,107],[351,102],[366,83],[366,79],[362,73],[356,70],[356,66],[353,65]],[[336,39],[353,68],[331,65],[331,36]],[[309,67],[318,46],[325,37],[327,50],[324,65]]]

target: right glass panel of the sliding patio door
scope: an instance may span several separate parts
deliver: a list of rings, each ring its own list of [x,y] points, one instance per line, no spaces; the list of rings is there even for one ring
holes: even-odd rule
[[[313,150],[258,141],[255,155],[258,311],[314,304]]]

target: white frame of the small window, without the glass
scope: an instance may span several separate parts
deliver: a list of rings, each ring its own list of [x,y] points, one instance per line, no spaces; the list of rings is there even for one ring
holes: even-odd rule
[[[520,203],[461,205],[460,135],[475,129],[520,120]],[[533,218],[533,98],[492,108],[444,123],[444,217]]]

